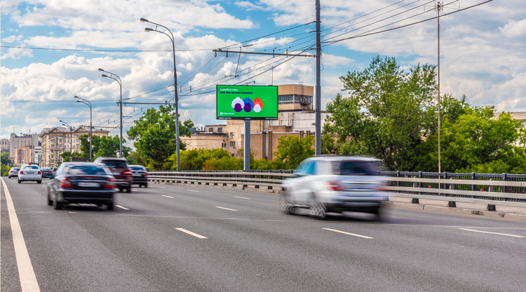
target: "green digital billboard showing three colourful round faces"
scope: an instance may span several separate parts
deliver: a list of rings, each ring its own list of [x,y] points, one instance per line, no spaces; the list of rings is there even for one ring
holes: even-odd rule
[[[217,85],[217,120],[277,120],[278,87]]]

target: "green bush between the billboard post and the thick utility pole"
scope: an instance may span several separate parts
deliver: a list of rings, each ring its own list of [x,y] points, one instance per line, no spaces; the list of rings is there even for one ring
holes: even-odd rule
[[[275,158],[271,161],[272,169],[295,169],[300,162],[314,155],[314,137],[304,137],[299,140],[296,136],[278,138]]]

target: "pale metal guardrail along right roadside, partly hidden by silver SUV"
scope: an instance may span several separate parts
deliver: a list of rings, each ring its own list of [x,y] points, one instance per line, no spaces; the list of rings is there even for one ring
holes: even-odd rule
[[[283,179],[292,176],[292,169],[272,171],[188,171],[149,172],[149,181],[188,183],[209,186],[234,186],[282,190]],[[526,174],[457,174],[436,172],[378,172],[384,176],[386,191],[393,197],[526,207]]]

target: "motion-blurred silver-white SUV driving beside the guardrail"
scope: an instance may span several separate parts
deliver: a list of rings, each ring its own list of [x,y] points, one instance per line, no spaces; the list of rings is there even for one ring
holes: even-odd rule
[[[294,176],[283,181],[281,210],[293,214],[307,208],[315,218],[328,212],[358,211],[381,218],[383,181],[377,176],[380,160],[353,156],[307,158]]]

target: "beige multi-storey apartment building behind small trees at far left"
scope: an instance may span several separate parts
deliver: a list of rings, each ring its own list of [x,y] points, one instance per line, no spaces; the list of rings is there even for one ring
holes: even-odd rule
[[[93,136],[107,136],[107,130],[93,128]],[[62,162],[62,153],[68,152],[81,153],[81,140],[79,137],[90,134],[90,130],[84,127],[77,127],[69,131],[67,127],[46,127],[42,130],[41,137],[41,166],[57,167],[58,162]]]

